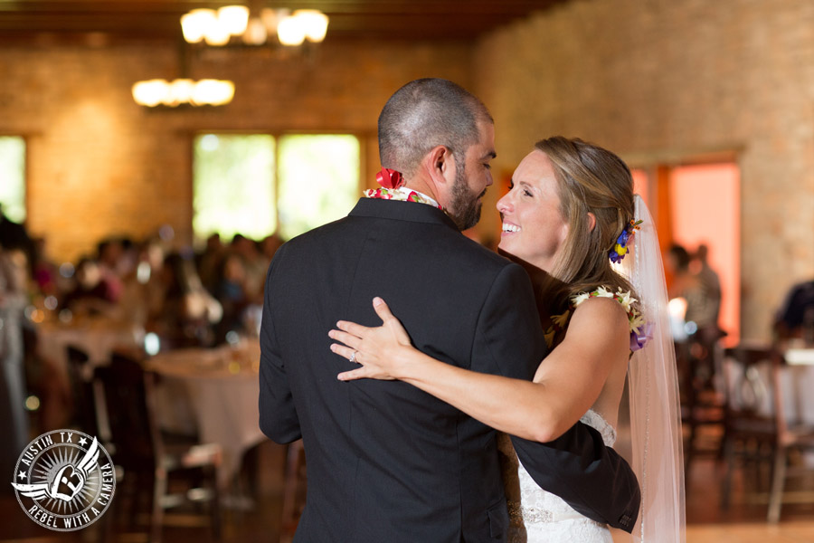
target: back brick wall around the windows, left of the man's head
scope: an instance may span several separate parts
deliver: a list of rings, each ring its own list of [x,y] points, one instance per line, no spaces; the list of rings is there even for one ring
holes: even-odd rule
[[[200,130],[335,130],[363,138],[363,180],[378,165],[376,119],[403,83],[469,84],[469,45],[343,43],[310,54],[193,50],[187,74],[235,82],[231,104],[148,110],[135,81],[180,77],[175,44],[0,46],[0,134],[28,144],[28,224],[58,260],[109,234],[135,238],[171,224],[191,240],[191,142]]]

